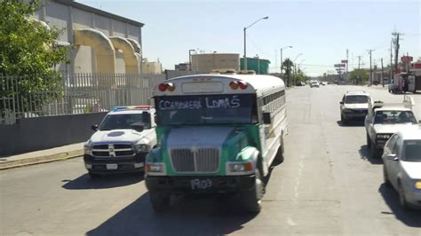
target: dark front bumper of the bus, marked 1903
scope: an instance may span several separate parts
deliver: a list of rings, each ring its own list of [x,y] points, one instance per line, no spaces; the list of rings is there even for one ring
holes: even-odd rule
[[[149,191],[168,193],[238,193],[255,187],[255,175],[228,177],[146,176]]]

